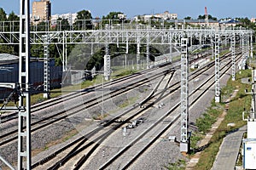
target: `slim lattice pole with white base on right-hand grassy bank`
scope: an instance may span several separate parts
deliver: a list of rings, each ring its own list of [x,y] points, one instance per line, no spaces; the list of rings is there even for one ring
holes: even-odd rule
[[[215,102],[220,102],[220,85],[219,85],[219,35],[215,34]]]

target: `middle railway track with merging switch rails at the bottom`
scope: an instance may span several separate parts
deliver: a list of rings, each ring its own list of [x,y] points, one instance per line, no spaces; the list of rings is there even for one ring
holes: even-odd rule
[[[214,65],[214,64],[210,64],[210,65]],[[210,65],[207,65],[205,68],[210,67]],[[203,71],[203,70],[201,70],[201,72],[195,71],[195,73],[193,73],[193,74],[199,76],[202,72],[204,72],[204,71]],[[169,82],[169,81],[168,81],[168,82]],[[173,87],[172,87],[172,88],[173,88],[172,91],[176,91],[176,90],[179,88],[179,87],[178,87],[178,82],[176,83],[176,86],[177,86],[177,88],[173,88]],[[164,91],[166,92],[166,90],[164,90]],[[164,97],[164,96],[163,96],[163,93],[156,94],[156,95],[160,95],[161,97]],[[155,95],[155,96],[156,96],[156,95]],[[155,97],[155,96],[154,96],[154,97]],[[151,99],[152,99],[152,98],[151,98]],[[158,99],[160,100],[160,98],[158,98]],[[148,100],[149,100],[149,98],[148,98]],[[153,103],[155,103],[155,102],[156,102],[156,101],[154,101]],[[143,109],[146,110],[146,109],[148,109],[150,106],[151,106],[151,105],[149,104],[149,105],[146,106],[146,108],[143,108]],[[143,112],[143,109],[142,109],[141,112]],[[133,110],[134,110],[134,108],[133,108]],[[125,114],[126,114],[126,113],[125,113]],[[125,114],[124,114],[124,115],[125,115]],[[108,121],[108,122],[105,122],[104,124],[102,124],[102,127],[98,127],[97,129],[91,131],[90,133],[85,134],[84,137],[78,139],[77,141],[74,141],[73,144],[68,144],[67,146],[65,146],[65,147],[62,148],[61,150],[56,151],[54,154],[52,154],[52,155],[49,156],[48,158],[45,158],[44,160],[35,163],[35,164],[33,165],[33,167],[38,167],[40,164],[43,164],[43,163],[49,161],[50,158],[55,157],[56,155],[60,154],[63,150],[67,150],[68,148],[71,147],[71,145],[74,145],[74,144],[77,144],[77,143],[79,143],[79,144],[77,144],[75,147],[73,147],[73,150],[71,150],[71,151],[69,152],[69,154],[67,154],[67,156],[65,156],[61,161],[57,161],[57,162],[55,163],[55,165],[52,166],[52,167],[49,167],[49,169],[56,169],[56,168],[58,168],[58,167],[61,167],[61,165],[65,164],[65,163],[66,163],[68,160],[70,160],[73,156],[78,155],[82,150],[84,150],[84,149],[86,149],[86,148],[88,148],[88,147],[92,147],[91,145],[92,145],[92,144],[95,144],[96,141],[97,141],[96,146],[93,146],[93,147],[92,147],[92,148],[93,148],[92,150],[96,150],[95,147],[97,147],[100,143],[102,143],[102,142],[104,141],[104,139],[105,139],[104,136],[106,137],[106,136],[110,135],[111,133],[114,132],[115,129],[118,129],[119,127],[123,126],[124,123],[130,122],[130,120],[131,120],[132,118],[134,118],[136,115],[131,116],[130,119],[126,119],[125,121],[120,122],[120,123],[118,123],[118,125],[114,126],[113,123],[115,123],[115,121],[116,121],[119,117],[121,117],[121,116],[123,116],[123,115],[119,115],[119,116],[115,117],[113,120]],[[107,133],[106,131],[102,131],[102,129],[104,129],[105,127],[109,127],[110,125],[112,125],[112,131],[108,131],[108,133]],[[98,136],[98,137],[95,137],[95,139],[90,139],[92,136],[96,135],[96,133],[99,133],[100,131],[101,131],[101,132],[104,132],[104,133],[102,133],[102,136],[100,135],[100,136]],[[89,139],[90,139],[90,142],[89,142],[88,144],[84,144],[85,142],[89,141]],[[93,142],[91,142],[91,141],[93,141]],[[84,146],[81,147],[81,145],[84,145]],[[92,150],[89,151],[88,153],[93,152]],[[91,153],[91,154],[92,154],[92,153]],[[89,156],[90,156],[90,154],[87,154],[86,156],[84,156],[84,158],[82,158],[81,161],[79,161],[79,163],[84,162],[83,160],[88,159]],[[77,164],[77,165],[78,165],[77,167],[79,167],[79,163]]]

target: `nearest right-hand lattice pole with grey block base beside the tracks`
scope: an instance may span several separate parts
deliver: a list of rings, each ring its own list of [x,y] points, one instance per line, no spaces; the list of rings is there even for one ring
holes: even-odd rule
[[[189,53],[188,38],[181,39],[181,143],[180,151],[189,151]]]

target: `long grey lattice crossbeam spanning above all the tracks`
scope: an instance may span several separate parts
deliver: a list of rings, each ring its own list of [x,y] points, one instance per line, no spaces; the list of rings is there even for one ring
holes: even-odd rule
[[[137,44],[137,34],[139,32],[141,44],[146,44],[146,37],[150,33],[151,44],[169,44],[169,38],[171,37],[183,37],[188,35],[189,37],[211,37],[217,32],[213,29],[124,29],[115,30],[111,29],[110,38],[107,40],[105,37],[109,37],[108,30],[85,30],[85,31],[31,31],[30,42],[31,44],[44,44],[44,35],[50,33],[50,44],[78,44],[78,43],[125,43],[126,38],[129,37],[129,43]],[[219,30],[219,37],[230,37],[233,33],[236,35],[252,34],[251,30]],[[17,36],[19,32],[15,31],[0,31],[0,44],[19,44],[20,38]]]

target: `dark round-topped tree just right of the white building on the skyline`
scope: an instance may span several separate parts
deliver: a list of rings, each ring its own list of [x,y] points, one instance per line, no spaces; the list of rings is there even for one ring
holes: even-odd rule
[[[89,10],[82,10],[78,12],[77,18],[74,23],[75,30],[91,30],[92,23],[91,23],[92,16]]]

